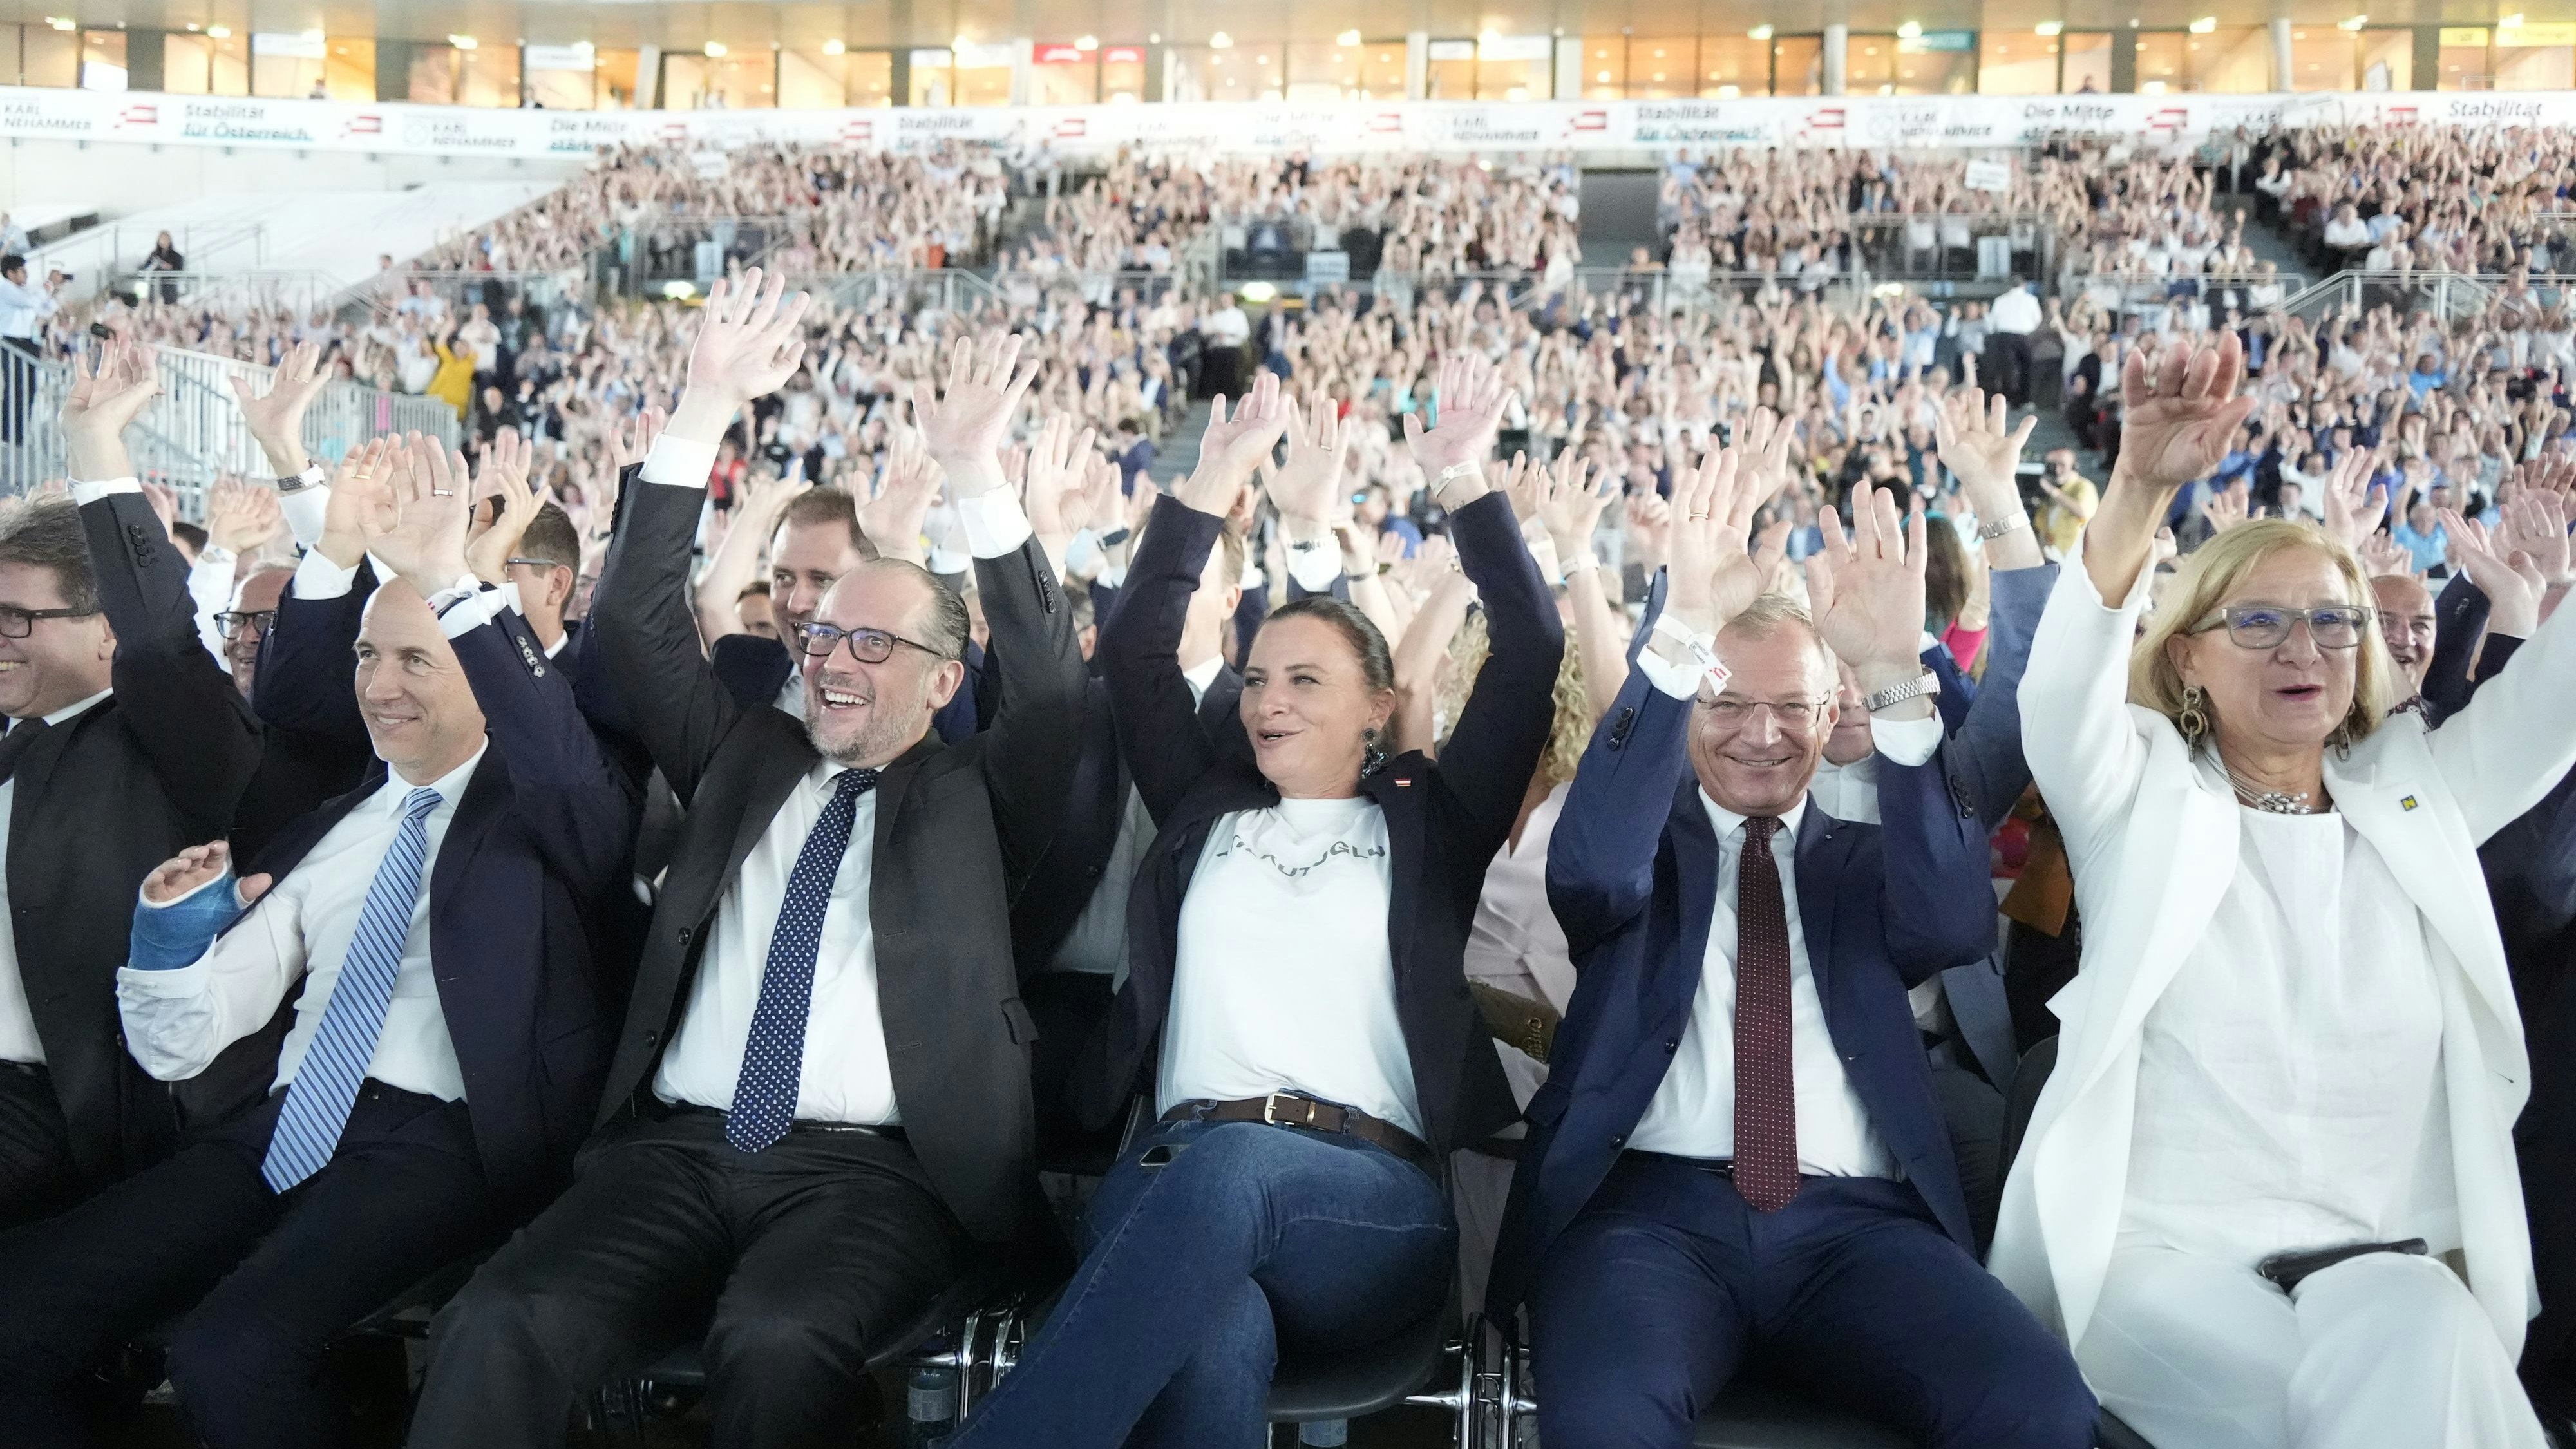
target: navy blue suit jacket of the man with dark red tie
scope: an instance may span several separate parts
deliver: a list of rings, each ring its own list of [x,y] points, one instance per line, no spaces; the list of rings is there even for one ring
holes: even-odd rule
[[[1638,639],[1646,637],[1638,627]],[[1716,910],[1718,841],[1687,761],[1692,704],[1631,670],[1592,732],[1548,843],[1548,905],[1577,985],[1512,1173],[1486,1315],[1507,1318],[1548,1245],[1610,1173],[1680,1049]],[[1870,1124],[1942,1230],[1973,1248],[1968,1199],[1906,990],[1994,949],[1986,830],[1942,758],[1878,763],[1883,825],[1814,802],[1798,828],[1798,920],[1834,1049]],[[1893,853],[1883,846],[1893,843]]]

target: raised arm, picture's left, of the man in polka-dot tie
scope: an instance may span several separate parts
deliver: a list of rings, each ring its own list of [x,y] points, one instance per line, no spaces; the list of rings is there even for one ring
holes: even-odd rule
[[[672,794],[688,804],[716,745],[742,706],[716,683],[688,606],[688,549],[706,508],[716,443],[755,397],[775,392],[804,358],[796,322],[806,297],[783,299],[786,281],[716,281],[698,340],[688,353],[688,387],[644,459],[641,482],[626,490],[618,531],[608,544],[590,603],[608,668],[623,681],[636,732],[662,766]]]

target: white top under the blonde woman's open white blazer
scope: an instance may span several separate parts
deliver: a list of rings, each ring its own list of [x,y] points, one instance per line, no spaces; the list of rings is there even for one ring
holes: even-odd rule
[[[2244,843],[2138,1036],[2120,1245],[2460,1245],[2442,985],[2424,918],[2342,815],[2236,810]]]

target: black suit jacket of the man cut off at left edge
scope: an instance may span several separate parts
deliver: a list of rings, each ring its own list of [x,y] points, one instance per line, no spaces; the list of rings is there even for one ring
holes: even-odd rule
[[[193,1093],[126,1055],[116,967],[134,892],[185,846],[224,838],[260,761],[260,727],[196,637],[188,559],[139,492],[80,511],[100,608],[116,629],[116,694],[33,737],[13,771],[8,900],[36,1036],[98,1186],[178,1140]]]

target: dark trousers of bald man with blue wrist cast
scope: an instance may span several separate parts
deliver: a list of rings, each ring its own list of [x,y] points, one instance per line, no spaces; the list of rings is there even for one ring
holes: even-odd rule
[[[281,1096],[90,1201],[0,1238],[0,1423],[88,1444],[75,1390],[178,1318],[170,1382],[216,1449],[340,1444],[322,1351],[502,1227],[464,1104],[363,1083],[340,1150],[278,1196],[260,1178]],[[191,1307],[193,1305],[193,1307]]]

